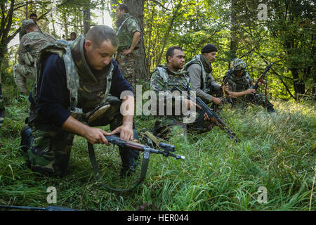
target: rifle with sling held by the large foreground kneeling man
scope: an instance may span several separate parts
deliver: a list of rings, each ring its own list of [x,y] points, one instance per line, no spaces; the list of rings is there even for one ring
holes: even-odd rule
[[[185,159],[185,156],[183,156],[183,155],[173,154],[172,152],[174,152],[175,146],[169,145],[167,143],[159,143],[159,148],[162,148],[162,150],[157,150],[154,148],[150,148],[149,146],[146,146],[146,145],[143,145],[140,143],[136,143],[134,141],[123,141],[123,140],[119,139],[119,136],[117,136],[117,135],[105,136],[105,139],[107,139],[107,141],[112,143],[113,145],[117,145],[120,147],[129,148],[129,149],[133,149],[133,150],[139,150],[139,151],[144,152],[143,162],[142,162],[142,167],[140,169],[140,177],[138,179],[138,182],[136,184],[134,184],[131,188],[128,188],[128,189],[112,188],[111,186],[108,186],[107,184],[104,184],[101,181],[102,178],[100,176],[98,163],[96,162],[96,155],[94,153],[93,145],[91,143],[88,143],[88,152],[89,152],[89,156],[90,156],[91,165],[93,167],[93,171],[96,174],[97,179],[99,181],[101,181],[101,184],[105,188],[107,188],[107,190],[109,190],[109,191],[118,191],[118,192],[131,191],[131,190],[133,190],[133,188],[136,188],[140,183],[142,183],[143,180],[145,179],[145,176],[146,176],[147,167],[148,167],[149,160],[150,160],[150,153],[161,154],[161,155],[164,155],[166,157],[170,156],[170,157],[176,158],[177,160],[179,160],[179,159],[184,160]]]

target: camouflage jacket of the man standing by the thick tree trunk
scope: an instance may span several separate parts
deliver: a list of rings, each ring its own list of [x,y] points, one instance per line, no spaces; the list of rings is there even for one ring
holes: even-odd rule
[[[138,26],[136,18],[134,18],[129,13],[124,13],[117,20],[117,37],[119,39],[118,51],[123,49],[129,49],[133,41],[133,34],[135,32],[140,32],[140,27]],[[137,46],[136,46],[137,48]]]

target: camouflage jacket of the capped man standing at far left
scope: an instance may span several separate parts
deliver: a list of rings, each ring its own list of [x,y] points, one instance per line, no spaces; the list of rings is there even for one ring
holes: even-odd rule
[[[21,65],[32,65],[39,55],[39,51],[49,44],[55,43],[57,39],[44,32],[30,32],[20,40],[18,49],[18,62]]]

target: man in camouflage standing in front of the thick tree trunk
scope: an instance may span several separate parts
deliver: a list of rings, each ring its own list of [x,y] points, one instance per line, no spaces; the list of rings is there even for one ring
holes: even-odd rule
[[[136,18],[129,14],[129,8],[125,4],[117,6],[117,37],[119,48],[116,60],[125,79],[135,88],[136,73],[133,51],[137,51],[141,31]]]

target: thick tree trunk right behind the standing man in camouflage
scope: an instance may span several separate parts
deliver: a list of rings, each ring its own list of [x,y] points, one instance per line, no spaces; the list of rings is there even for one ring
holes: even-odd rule
[[[146,52],[144,45],[144,1],[143,0],[126,0],[126,6],[129,7],[129,13],[133,15],[140,27],[142,36],[140,37],[139,49],[134,51],[136,79],[149,79],[148,69],[146,65]]]

